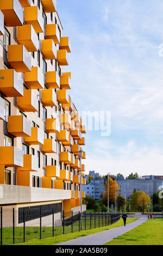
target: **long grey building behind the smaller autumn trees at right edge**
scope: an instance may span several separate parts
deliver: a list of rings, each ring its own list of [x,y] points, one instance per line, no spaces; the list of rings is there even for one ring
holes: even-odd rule
[[[136,191],[143,191],[148,194],[149,197],[153,193],[160,191],[160,186],[163,185],[162,180],[145,180],[145,179],[126,179],[117,180],[118,186],[120,186],[119,193],[126,199],[130,199],[134,189]],[[162,188],[161,188],[162,190]]]

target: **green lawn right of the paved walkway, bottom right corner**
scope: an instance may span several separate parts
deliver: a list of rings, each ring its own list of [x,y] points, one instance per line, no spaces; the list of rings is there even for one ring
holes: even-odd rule
[[[163,245],[163,219],[148,220],[105,245]]]

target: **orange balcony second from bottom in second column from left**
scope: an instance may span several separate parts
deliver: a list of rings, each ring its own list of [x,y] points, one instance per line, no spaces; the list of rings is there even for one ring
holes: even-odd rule
[[[44,133],[39,127],[31,128],[31,137],[25,137],[24,142],[29,145],[43,145]]]

